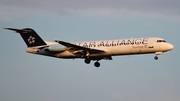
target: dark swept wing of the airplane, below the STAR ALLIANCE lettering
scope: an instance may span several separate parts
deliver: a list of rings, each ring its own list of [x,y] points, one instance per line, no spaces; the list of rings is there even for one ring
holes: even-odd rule
[[[55,42],[66,46],[68,48],[68,50],[71,51],[71,52],[73,52],[73,51],[82,51],[82,50],[88,52],[89,54],[105,52],[104,50],[99,50],[99,49],[93,49],[93,48],[87,48],[87,47],[83,47],[83,46],[78,46],[78,45],[71,44],[71,43],[64,42],[64,41],[55,40]]]

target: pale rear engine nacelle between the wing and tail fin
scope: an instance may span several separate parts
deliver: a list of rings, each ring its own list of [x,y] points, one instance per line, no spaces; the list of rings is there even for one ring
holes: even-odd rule
[[[67,49],[66,46],[63,45],[52,45],[49,46],[47,48],[45,48],[45,51],[49,51],[49,52],[63,52]]]

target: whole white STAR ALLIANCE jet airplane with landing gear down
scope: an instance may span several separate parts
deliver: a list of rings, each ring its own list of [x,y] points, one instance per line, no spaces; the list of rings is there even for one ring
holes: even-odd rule
[[[86,64],[96,61],[95,67],[99,67],[102,59],[112,60],[112,56],[155,54],[157,55],[170,51],[174,46],[162,38],[129,38],[119,40],[101,40],[69,43],[61,40],[55,42],[44,41],[33,29],[4,28],[12,30],[21,35],[25,41],[26,52],[45,55],[63,59],[84,59]]]

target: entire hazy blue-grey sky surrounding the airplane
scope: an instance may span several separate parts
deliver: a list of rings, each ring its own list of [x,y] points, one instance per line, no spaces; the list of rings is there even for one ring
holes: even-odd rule
[[[20,35],[68,42],[162,37],[170,52],[117,56],[95,68],[82,59],[32,55]],[[1,0],[1,101],[180,101],[179,0]]]

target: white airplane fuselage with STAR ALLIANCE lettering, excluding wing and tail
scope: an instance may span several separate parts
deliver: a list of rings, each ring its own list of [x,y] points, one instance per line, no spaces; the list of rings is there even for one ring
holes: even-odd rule
[[[56,47],[56,48],[62,46],[56,42],[46,42],[46,43],[48,46]],[[98,54],[96,53],[89,54],[89,57],[149,54],[149,53],[155,53],[156,55],[159,55],[173,49],[173,45],[167,43],[162,38],[130,38],[130,39],[120,39],[120,40],[75,42],[73,44],[82,47],[105,51]],[[38,48],[39,47],[28,47],[26,51],[29,53],[53,56],[58,58],[79,58],[69,51],[47,52],[44,50],[39,50]]]

